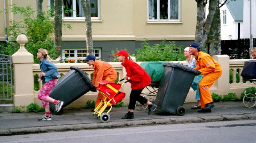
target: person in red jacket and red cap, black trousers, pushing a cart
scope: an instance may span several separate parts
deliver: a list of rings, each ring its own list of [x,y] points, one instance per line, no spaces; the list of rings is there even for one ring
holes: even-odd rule
[[[122,62],[122,66],[125,67],[127,75],[124,79],[130,80],[129,82],[131,83],[130,102],[128,106],[128,109],[130,110],[124,117],[122,117],[122,119],[134,118],[136,101],[140,102],[140,104],[147,104],[148,115],[150,115],[156,109],[157,105],[140,96],[144,87],[151,83],[150,76],[142,67],[140,67],[139,64],[131,60],[131,57],[128,55],[126,50],[120,50],[115,54],[118,56],[118,61]]]

